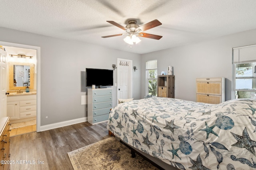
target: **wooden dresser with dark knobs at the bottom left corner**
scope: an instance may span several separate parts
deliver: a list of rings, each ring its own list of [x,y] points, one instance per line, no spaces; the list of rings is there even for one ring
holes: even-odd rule
[[[0,170],[10,170],[10,121],[9,117],[0,118],[0,159],[4,160],[6,164],[0,166]]]

